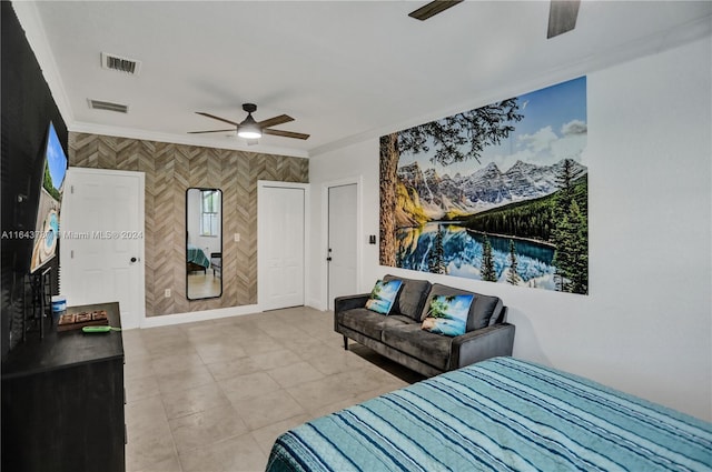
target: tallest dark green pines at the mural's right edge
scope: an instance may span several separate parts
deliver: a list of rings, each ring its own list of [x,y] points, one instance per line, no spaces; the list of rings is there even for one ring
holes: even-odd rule
[[[554,265],[561,277],[561,290],[572,293],[589,291],[589,221],[575,199],[573,181],[578,177],[573,172],[573,162],[564,161],[557,179],[557,193],[553,242]]]

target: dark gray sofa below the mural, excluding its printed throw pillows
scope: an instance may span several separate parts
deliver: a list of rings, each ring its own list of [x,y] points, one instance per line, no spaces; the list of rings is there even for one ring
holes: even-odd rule
[[[365,308],[368,293],[334,300],[334,330],[426,376],[459,369],[488,358],[512,355],[514,325],[497,297],[468,292],[426,280],[386,275],[403,281],[388,315]],[[446,337],[421,329],[432,297],[474,293],[465,334]]]

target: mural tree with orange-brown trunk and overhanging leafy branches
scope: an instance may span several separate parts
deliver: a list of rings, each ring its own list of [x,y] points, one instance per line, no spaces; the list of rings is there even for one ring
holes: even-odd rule
[[[396,265],[397,170],[402,152],[426,152],[437,148],[433,161],[442,165],[479,157],[487,145],[498,144],[524,118],[516,98],[503,100],[431,121],[380,138],[380,263]],[[468,147],[469,149],[466,149]],[[463,151],[466,149],[465,151]]]

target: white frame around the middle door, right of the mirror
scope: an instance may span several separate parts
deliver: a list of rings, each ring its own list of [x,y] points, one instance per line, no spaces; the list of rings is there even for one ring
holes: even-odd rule
[[[307,303],[307,293],[309,292],[309,221],[310,221],[310,212],[309,212],[309,188],[308,183],[297,183],[297,182],[280,182],[274,180],[258,180],[257,181],[257,307],[259,307],[260,311],[264,311],[264,301],[265,301],[265,287],[266,285],[266,273],[267,273],[267,262],[265,260],[265,254],[263,252],[263,244],[259,241],[265,240],[265,228],[264,228],[264,219],[260,218],[265,212],[264,208],[264,198],[265,191],[269,188],[279,188],[279,189],[300,189],[304,191],[304,293],[303,300],[304,303]]]

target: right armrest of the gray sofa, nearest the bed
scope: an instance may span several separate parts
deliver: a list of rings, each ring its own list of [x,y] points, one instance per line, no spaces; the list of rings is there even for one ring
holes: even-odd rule
[[[497,323],[453,338],[448,370],[498,355],[512,355],[514,331],[514,324]]]

